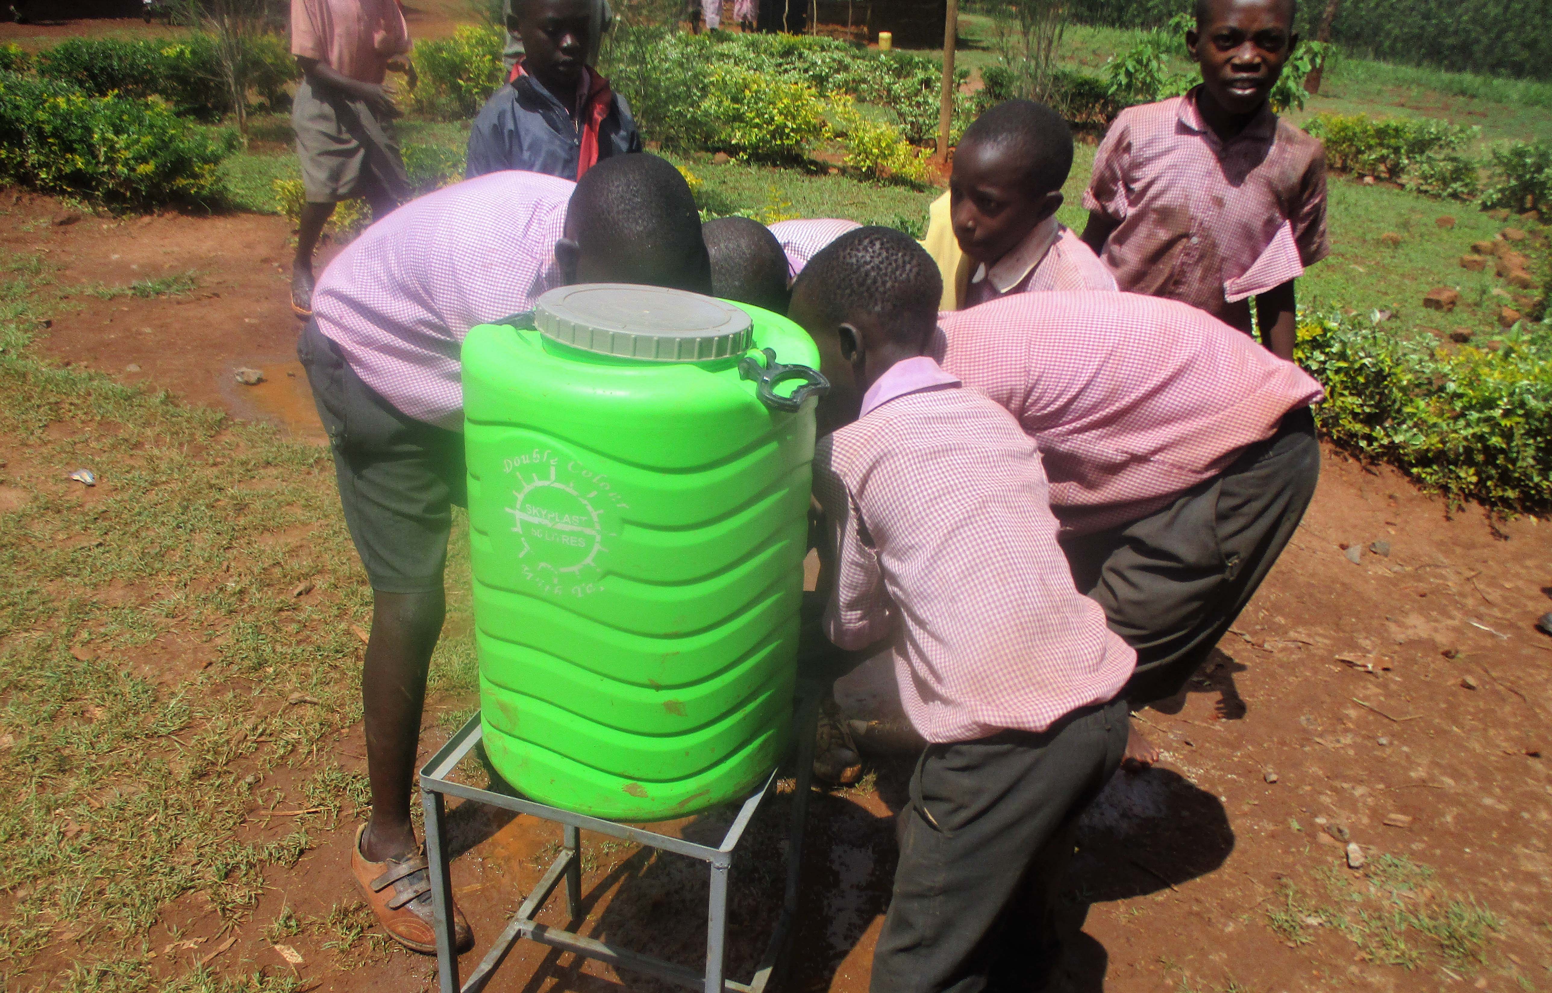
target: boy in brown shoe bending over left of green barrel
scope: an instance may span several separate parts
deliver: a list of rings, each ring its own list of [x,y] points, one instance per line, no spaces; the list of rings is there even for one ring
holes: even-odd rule
[[[394,211],[318,281],[296,352],[334,448],[345,523],[372,585],[362,670],[372,816],[351,852],[366,905],[399,943],[435,953],[410,788],[431,650],[442,630],[452,504],[466,503],[464,335],[571,282],[711,292],[695,200],[655,155],[580,183],[498,172]],[[459,946],[473,942],[458,914]]]

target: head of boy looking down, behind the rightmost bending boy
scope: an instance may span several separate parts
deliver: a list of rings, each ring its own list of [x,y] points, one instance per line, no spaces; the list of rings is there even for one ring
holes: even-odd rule
[[[948,178],[961,251],[993,265],[1057,213],[1071,171],[1072,129],[1051,107],[1010,99],[978,116]]]

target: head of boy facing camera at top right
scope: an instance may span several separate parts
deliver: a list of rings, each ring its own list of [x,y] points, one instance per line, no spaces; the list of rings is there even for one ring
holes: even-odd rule
[[[1299,36],[1296,0],[1197,0],[1186,47],[1201,67],[1203,92],[1229,116],[1248,118],[1271,96]]]

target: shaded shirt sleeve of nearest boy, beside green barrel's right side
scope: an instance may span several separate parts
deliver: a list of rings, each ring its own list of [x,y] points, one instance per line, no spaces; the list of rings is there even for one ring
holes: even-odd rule
[[[813,453],[813,495],[824,509],[824,540],[835,562],[835,590],[824,607],[824,635],[841,649],[866,649],[891,628],[889,596],[878,568],[878,552],[846,483],[832,467],[832,439],[819,439]]]

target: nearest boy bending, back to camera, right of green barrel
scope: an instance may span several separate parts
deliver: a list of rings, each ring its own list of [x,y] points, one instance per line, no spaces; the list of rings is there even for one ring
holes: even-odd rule
[[[1038,988],[1072,822],[1127,740],[1113,698],[1133,653],[1072,588],[1034,441],[925,354],[941,293],[909,236],[861,228],[809,262],[790,310],[832,383],[813,459],[824,628],[892,645],[930,742],[875,993]]]

